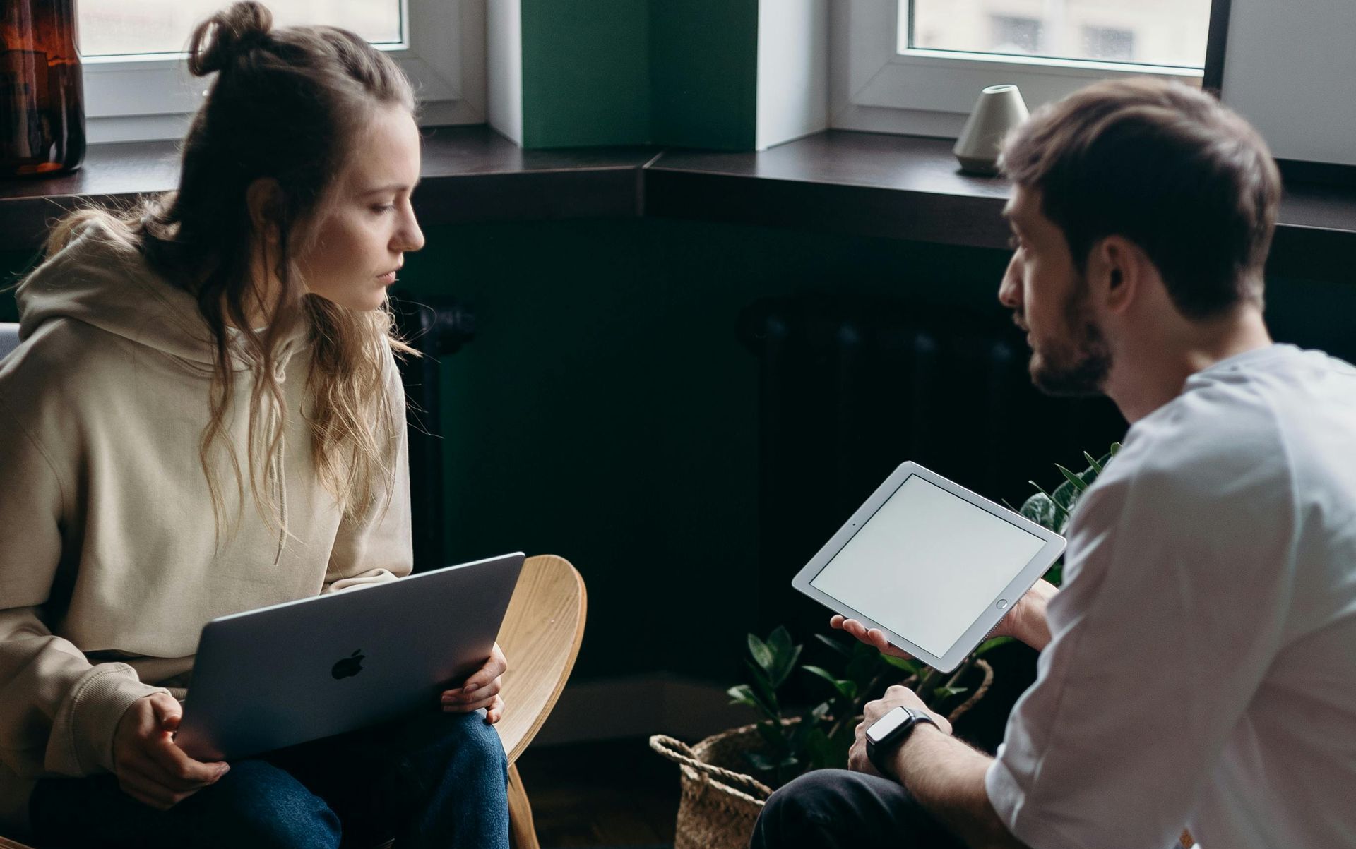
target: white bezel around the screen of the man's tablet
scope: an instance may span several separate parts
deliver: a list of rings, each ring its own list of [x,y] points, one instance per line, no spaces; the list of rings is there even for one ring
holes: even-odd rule
[[[971,623],[968,628],[965,628],[965,631],[956,639],[944,655],[936,655],[932,651],[928,651],[910,640],[907,636],[895,632],[869,616],[864,616],[861,612],[853,609],[852,605],[830,596],[816,586],[811,586],[810,584],[820,571],[824,570],[824,567],[829,566],[829,562],[848,546],[848,542],[852,540],[858,531],[866,527],[866,523],[871,521],[885,501],[899,492],[899,487],[904,485],[904,481],[914,475],[918,475],[923,481],[980,508],[997,519],[1002,519],[1003,521],[1026,531],[1045,543],[1035,554],[1035,557],[1032,557],[1031,561],[1028,561],[1028,563],[1017,571],[1008,585],[989,601],[979,617]],[[815,557],[811,558],[799,573],[796,573],[791,585],[835,613],[842,613],[849,619],[856,619],[868,628],[880,628],[891,645],[903,649],[938,672],[951,672],[960,665],[965,655],[975,650],[980,640],[983,640],[984,636],[994,630],[994,626],[997,626],[998,622],[1012,609],[1012,605],[1016,604],[1017,600],[1021,598],[1037,580],[1040,580],[1040,575],[1045,574],[1056,559],[1059,559],[1059,555],[1064,551],[1064,538],[1054,531],[1044,528],[1002,505],[994,504],[989,498],[984,498],[983,496],[974,493],[953,481],[948,481],[930,469],[925,469],[913,460],[907,460],[900,463],[899,467],[895,469],[895,471],[876,487],[876,492],[873,492],[871,497],[866,498],[860,508],[857,508],[852,517],[849,517],[848,521],[838,528],[838,532],[834,534],[827,543],[824,543],[819,552],[815,554]],[[999,601],[1006,601],[1008,604],[999,608]]]

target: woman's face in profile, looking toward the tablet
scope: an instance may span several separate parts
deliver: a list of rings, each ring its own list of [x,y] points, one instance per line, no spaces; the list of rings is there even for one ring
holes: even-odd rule
[[[414,118],[400,106],[382,106],[339,175],[315,241],[296,256],[306,291],[353,310],[381,306],[404,255],[424,244],[410,206],[418,183]]]

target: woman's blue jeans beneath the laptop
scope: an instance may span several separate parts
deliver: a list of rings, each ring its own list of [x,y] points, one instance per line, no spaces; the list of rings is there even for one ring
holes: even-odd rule
[[[38,781],[28,812],[39,846],[507,849],[507,781],[484,711],[430,711],[232,761],[168,811],[103,773]]]

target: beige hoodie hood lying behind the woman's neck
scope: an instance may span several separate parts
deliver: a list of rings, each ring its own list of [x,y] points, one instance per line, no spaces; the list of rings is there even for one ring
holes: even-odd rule
[[[171,284],[117,225],[94,218],[73,230],[65,248],[47,259],[16,288],[19,339],[43,324],[73,318],[171,356],[210,367],[216,343],[197,299]],[[279,343],[281,374],[304,329]],[[232,353],[232,367],[248,364]]]

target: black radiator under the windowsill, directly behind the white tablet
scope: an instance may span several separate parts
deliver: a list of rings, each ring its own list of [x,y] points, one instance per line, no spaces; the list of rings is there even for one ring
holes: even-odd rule
[[[1020,505],[1055,462],[1102,452],[1125,422],[1105,398],[1031,385],[997,311],[839,295],[769,298],[739,317],[758,357],[758,627],[826,628],[791,578],[903,460]]]

